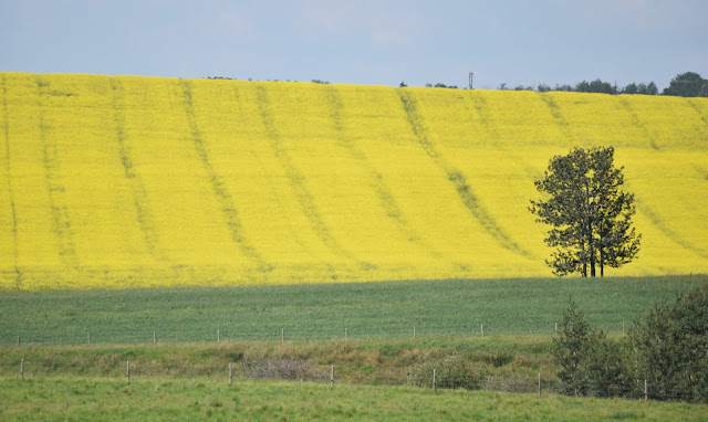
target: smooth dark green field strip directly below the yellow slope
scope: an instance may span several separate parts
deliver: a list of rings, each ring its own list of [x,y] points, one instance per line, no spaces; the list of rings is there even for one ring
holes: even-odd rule
[[[573,295],[591,323],[628,328],[708,276],[447,279],[292,286],[0,293],[0,345],[551,335]]]

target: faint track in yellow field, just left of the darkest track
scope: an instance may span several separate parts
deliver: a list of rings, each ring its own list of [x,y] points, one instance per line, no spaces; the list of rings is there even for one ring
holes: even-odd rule
[[[398,202],[396,201],[392,190],[386,184],[384,176],[379,171],[377,171],[374,166],[372,166],[366,155],[358,148],[356,148],[354,140],[351,138],[351,136],[347,135],[341,115],[341,110],[344,108],[344,104],[342,103],[342,97],[337,89],[333,86],[327,86],[326,97],[330,108],[332,109],[331,118],[334,124],[334,129],[337,134],[336,143],[343,146],[347,150],[350,156],[354,158],[366,170],[368,184],[376,191],[376,197],[378,197],[378,201],[386,217],[396,224],[398,231],[404,234],[408,242],[421,249],[433,257],[440,257],[440,253],[436,251],[431,245],[429,245],[421,238],[420,233],[412,228],[408,219],[398,205]]]

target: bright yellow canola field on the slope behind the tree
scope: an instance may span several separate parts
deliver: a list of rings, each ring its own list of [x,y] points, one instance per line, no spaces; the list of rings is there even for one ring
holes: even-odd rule
[[[708,273],[708,99],[0,73],[0,289],[549,276],[549,159],[614,146]]]

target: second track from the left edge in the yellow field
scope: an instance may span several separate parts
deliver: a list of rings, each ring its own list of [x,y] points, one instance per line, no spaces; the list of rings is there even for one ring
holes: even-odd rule
[[[66,187],[61,183],[56,175],[59,168],[59,146],[49,136],[50,126],[46,123],[43,110],[43,98],[51,95],[48,88],[50,83],[37,76],[38,118],[40,126],[40,141],[42,144],[42,163],[44,166],[44,180],[49,196],[49,204],[52,213],[52,231],[56,236],[59,257],[62,264],[77,268],[79,256],[74,243],[73,224],[66,205]]]

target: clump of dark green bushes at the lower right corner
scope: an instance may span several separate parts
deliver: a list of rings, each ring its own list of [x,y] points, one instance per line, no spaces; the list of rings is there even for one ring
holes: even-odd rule
[[[629,330],[610,340],[573,299],[562,312],[553,355],[560,392],[708,402],[708,285],[659,302]]]

